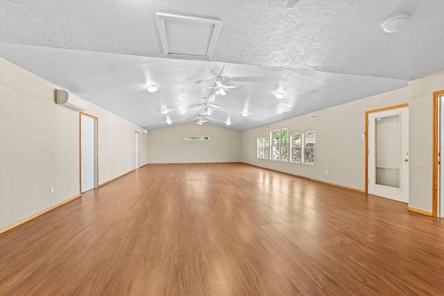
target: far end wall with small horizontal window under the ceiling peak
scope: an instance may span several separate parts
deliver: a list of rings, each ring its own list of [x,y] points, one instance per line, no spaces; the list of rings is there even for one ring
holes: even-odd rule
[[[210,141],[185,141],[186,136],[210,137]],[[148,130],[148,162],[240,162],[241,132],[196,123]]]

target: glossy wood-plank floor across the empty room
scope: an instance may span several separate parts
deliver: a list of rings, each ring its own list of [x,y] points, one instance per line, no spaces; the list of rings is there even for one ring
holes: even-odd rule
[[[1,295],[444,295],[444,220],[246,164],[153,164],[0,236]]]

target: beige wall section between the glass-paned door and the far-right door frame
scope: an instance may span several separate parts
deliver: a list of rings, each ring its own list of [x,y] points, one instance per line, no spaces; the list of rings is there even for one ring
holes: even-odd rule
[[[433,93],[444,89],[444,71],[409,82],[409,207],[432,212]]]

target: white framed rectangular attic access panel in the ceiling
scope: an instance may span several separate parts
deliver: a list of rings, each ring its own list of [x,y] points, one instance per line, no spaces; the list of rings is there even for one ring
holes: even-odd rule
[[[170,58],[210,60],[222,21],[157,12],[164,55]]]

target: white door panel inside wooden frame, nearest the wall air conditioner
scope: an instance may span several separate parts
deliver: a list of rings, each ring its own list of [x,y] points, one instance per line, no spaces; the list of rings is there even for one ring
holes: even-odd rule
[[[81,176],[82,193],[94,188],[94,119],[92,117],[81,116],[80,125],[80,156],[81,156]]]

